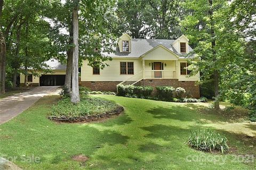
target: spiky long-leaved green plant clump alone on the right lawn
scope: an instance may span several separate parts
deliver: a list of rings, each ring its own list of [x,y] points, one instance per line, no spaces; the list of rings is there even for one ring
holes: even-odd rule
[[[213,150],[221,151],[222,154],[229,150],[227,138],[222,137],[219,133],[212,130],[192,131],[188,142],[191,148],[212,152]]]

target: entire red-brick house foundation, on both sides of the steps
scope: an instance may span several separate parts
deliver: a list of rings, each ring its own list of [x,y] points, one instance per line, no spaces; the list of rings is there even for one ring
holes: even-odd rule
[[[81,81],[81,86],[90,88],[93,91],[114,91],[116,85],[121,81]],[[200,98],[199,86],[195,81],[178,81],[178,79],[146,79],[142,80],[140,86],[172,86],[174,88],[182,87],[186,90],[186,95],[194,98]],[[154,89],[153,93],[156,92]]]

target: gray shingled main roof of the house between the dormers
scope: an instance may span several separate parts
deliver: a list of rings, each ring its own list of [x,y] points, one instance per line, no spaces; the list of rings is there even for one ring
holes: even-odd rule
[[[179,54],[172,46],[175,40],[171,39],[131,39],[131,53],[121,53],[119,47],[116,47],[115,53],[106,54],[110,57],[140,57],[142,54],[145,54],[150,49],[155,48],[158,45],[163,45],[164,47],[170,49],[172,52]],[[190,46],[188,52],[193,50]],[[181,56],[182,57],[182,56]]]

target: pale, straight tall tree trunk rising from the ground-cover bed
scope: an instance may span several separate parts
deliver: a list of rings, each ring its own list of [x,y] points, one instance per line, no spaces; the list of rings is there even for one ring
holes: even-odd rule
[[[78,88],[78,3],[79,0],[74,0],[73,8],[73,70],[72,70],[72,93],[71,102],[78,103],[80,101]]]

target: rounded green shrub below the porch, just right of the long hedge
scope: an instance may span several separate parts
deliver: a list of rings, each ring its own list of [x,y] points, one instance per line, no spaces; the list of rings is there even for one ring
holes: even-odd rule
[[[172,101],[174,88],[171,86],[157,86],[157,97],[161,100]]]

